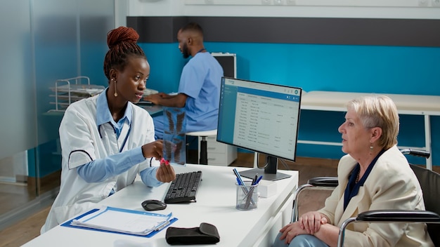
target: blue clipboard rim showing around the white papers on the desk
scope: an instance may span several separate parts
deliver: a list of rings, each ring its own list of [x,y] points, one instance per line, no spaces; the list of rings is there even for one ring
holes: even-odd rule
[[[142,213],[142,214],[149,214],[149,215],[157,215],[157,213],[148,213],[148,212],[141,212],[141,211],[131,211],[128,209],[123,209],[123,208],[112,208],[112,207],[108,207],[112,210],[116,210],[116,211],[124,211],[124,212],[131,212],[131,213]],[[92,231],[98,231],[98,232],[110,232],[110,233],[117,233],[117,234],[124,234],[124,235],[131,235],[131,236],[141,236],[141,237],[145,237],[145,238],[150,238],[152,236],[155,236],[155,234],[157,234],[158,232],[162,231],[162,229],[165,229],[167,227],[169,227],[169,225],[172,225],[172,223],[176,222],[176,220],[178,220],[177,218],[172,218],[169,220],[169,224],[164,226],[164,227],[160,227],[160,229],[157,229],[153,232],[150,232],[149,234],[146,235],[139,235],[139,234],[130,234],[127,232],[117,232],[117,231],[111,231],[111,230],[103,230],[103,229],[96,229],[93,227],[84,227],[84,226],[78,226],[78,225],[72,225],[72,221],[73,220],[78,220],[80,218],[83,218],[85,215],[89,215],[91,213],[94,213],[96,211],[100,210],[100,208],[93,208],[91,211],[88,211],[86,213],[83,213],[82,215],[77,216],[76,218],[72,218],[71,220],[67,220],[66,222],[64,222],[63,224],[61,224],[60,226],[62,227],[72,227],[72,228],[78,228],[78,229],[88,229],[88,230],[92,230]]]

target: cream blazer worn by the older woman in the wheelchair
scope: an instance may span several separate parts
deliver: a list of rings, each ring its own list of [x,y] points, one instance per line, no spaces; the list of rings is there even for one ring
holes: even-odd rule
[[[319,212],[340,227],[347,218],[358,213],[380,209],[425,210],[422,189],[405,156],[394,146],[384,152],[344,211],[344,190],[356,160],[346,155],[340,159],[337,174],[339,185],[326,199]],[[434,246],[426,225],[422,223],[351,223],[346,230],[344,246]]]

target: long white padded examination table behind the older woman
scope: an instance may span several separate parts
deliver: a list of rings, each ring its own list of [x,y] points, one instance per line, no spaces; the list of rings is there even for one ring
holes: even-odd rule
[[[347,103],[354,98],[359,98],[372,93],[346,93],[332,91],[310,91],[304,93],[301,99],[301,109],[345,112]],[[422,115],[425,119],[425,147],[400,147],[431,150],[431,123],[429,116],[440,116],[440,96],[436,95],[405,95],[392,93],[377,93],[387,95],[396,104],[399,114]],[[342,142],[316,142],[298,140],[298,143],[314,145],[342,145]],[[432,158],[427,159],[427,168],[432,170]]]

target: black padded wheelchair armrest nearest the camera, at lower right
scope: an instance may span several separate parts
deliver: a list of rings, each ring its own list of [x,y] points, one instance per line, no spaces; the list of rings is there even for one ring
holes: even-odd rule
[[[359,213],[356,220],[368,222],[438,222],[440,215],[431,211],[377,210]]]

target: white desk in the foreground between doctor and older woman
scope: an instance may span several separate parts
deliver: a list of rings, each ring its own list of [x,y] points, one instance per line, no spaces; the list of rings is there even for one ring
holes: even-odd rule
[[[243,171],[248,168],[237,168]],[[292,216],[293,193],[298,183],[297,171],[281,171],[291,178],[277,181],[277,194],[261,198],[254,211],[235,209],[235,175],[233,167],[187,165],[175,167],[177,173],[202,171],[197,202],[188,204],[168,204],[164,211],[172,212],[178,218],[172,227],[198,227],[201,222],[215,225],[220,234],[220,242],[215,246],[270,246],[281,227],[290,222]],[[140,181],[134,182],[101,202],[103,205],[143,211],[141,202],[145,199],[164,199],[168,184],[148,188]],[[149,243],[150,247],[169,246],[165,240],[166,229],[151,238],[96,232],[72,227],[55,227],[38,236],[24,246],[114,246],[115,241]],[[212,245],[207,245],[212,246]]]

